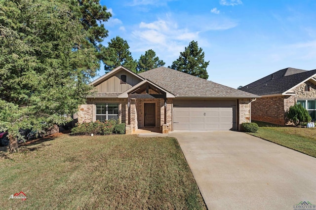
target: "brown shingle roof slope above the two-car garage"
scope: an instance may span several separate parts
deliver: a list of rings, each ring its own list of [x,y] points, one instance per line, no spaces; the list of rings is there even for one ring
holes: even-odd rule
[[[165,67],[148,70],[139,75],[176,97],[256,98],[256,95]]]

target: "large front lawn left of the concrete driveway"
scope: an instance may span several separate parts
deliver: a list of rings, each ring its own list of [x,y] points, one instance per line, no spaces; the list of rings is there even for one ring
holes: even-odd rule
[[[0,209],[206,209],[174,138],[62,135],[0,154]]]

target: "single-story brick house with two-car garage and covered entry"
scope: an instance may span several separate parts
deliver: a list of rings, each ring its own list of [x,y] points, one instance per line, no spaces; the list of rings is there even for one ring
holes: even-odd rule
[[[138,128],[239,130],[250,121],[250,102],[256,98],[165,67],[135,74],[120,66],[91,85],[96,92],[79,106],[79,123],[119,119],[126,133]]]

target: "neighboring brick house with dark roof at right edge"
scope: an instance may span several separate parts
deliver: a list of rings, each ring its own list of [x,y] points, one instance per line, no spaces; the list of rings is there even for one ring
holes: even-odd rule
[[[251,103],[251,119],[286,125],[289,107],[301,103],[315,120],[315,76],[316,70],[286,68],[240,88],[261,96]]]

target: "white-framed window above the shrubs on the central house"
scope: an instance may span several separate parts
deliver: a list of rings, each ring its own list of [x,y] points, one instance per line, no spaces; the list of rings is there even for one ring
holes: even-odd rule
[[[96,104],[96,120],[118,119],[118,104]]]

